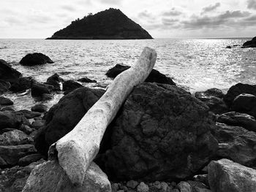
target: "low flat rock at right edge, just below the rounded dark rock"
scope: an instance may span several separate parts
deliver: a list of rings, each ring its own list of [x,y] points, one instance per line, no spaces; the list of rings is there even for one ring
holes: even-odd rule
[[[229,126],[241,126],[248,131],[256,132],[256,120],[251,115],[240,112],[227,112],[217,117],[217,122],[225,123]]]

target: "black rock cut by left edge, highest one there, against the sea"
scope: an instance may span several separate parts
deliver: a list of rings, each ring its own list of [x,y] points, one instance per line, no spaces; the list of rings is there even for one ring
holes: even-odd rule
[[[6,61],[0,59],[0,80],[13,83],[16,82],[20,76],[20,72],[13,69]]]

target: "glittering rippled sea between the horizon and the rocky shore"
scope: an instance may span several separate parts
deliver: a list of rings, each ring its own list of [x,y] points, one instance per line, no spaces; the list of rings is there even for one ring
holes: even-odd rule
[[[132,66],[143,47],[157,51],[154,69],[171,77],[177,85],[191,93],[219,88],[226,92],[238,82],[256,84],[256,48],[241,48],[252,38],[233,39],[143,39],[143,40],[45,40],[0,39],[0,58],[7,61],[23,77],[45,82],[58,73],[64,80],[89,77],[97,83],[89,87],[105,87],[112,80],[105,73],[116,64]],[[227,49],[228,45],[238,45]],[[19,61],[28,53],[48,55],[54,64],[21,66]],[[29,94],[29,93],[28,93]],[[15,108],[29,109],[37,101],[28,94],[7,93]],[[62,93],[45,101],[49,107]]]

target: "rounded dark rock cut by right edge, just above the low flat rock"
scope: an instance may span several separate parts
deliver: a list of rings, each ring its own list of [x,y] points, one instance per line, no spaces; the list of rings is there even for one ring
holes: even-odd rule
[[[231,109],[236,112],[252,115],[256,118],[256,96],[245,93],[238,95],[234,99]]]

